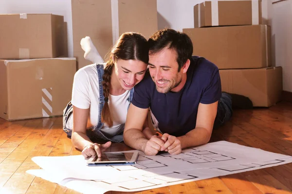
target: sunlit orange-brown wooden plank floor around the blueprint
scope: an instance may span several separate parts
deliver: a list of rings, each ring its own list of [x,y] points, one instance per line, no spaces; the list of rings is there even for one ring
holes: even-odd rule
[[[214,131],[211,141],[219,140],[292,155],[292,104],[235,111],[231,122]],[[122,149],[129,148],[113,144],[109,151]],[[0,194],[78,194],[25,173],[39,168],[31,161],[34,156],[78,154],[62,130],[62,117],[15,122],[0,119]],[[137,193],[292,194],[292,163]]]

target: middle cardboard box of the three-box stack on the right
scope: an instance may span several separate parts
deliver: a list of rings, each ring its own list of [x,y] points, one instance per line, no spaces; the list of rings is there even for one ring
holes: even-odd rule
[[[219,69],[271,66],[271,27],[266,25],[183,29],[193,42],[193,55]]]

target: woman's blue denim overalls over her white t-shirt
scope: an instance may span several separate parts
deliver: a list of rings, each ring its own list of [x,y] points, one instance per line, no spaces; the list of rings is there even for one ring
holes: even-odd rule
[[[100,100],[99,101],[99,118],[98,118],[97,125],[95,127],[87,129],[87,135],[89,136],[89,138],[96,139],[96,140],[102,139],[102,140],[111,141],[111,142],[122,142],[124,140],[123,139],[124,129],[119,131],[117,133],[117,135],[114,135],[112,137],[107,137],[100,130],[103,127],[103,123],[101,122],[101,112],[102,112],[103,106],[105,104],[104,97],[103,97],[103,87],[102,87],[102,81],[103,81],[102,77],[104,74],[104,66],[102,64],[97,64],[96,69],[97,69],[98,82],[99,82],[99,100]],[[130,95],[127,99],[129,102],[129,105],[130,105],[132,97],[133,97],[133,92],[134,92],[134,88],[132,88],[130,90]],[[68,118],[71,116],[72,113],[73,113],[73,106],[72,106],[72,103],[70,101],[63,111],[63,130],[67,133],[67,136],[69,136],[69,137],[71,137],[71,135],[72,135],[72,129],[67,129],[66,123],[67,123]]]

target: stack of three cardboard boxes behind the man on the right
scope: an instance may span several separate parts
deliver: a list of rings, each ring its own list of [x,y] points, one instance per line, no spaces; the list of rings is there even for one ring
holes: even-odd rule
[[[272,67],[271,27],[261,19],[261,0],[205,1],[194,6],[193,55],[219,67],[223,92],[249,97],[256,107],[281,99],[282,68]]]

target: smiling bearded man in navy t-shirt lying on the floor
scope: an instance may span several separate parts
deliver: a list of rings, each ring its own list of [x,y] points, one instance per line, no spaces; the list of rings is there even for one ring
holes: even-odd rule
[[[186,34],[164,29],[148,43],[150,76],[135,86],[124,130],[128,146],[146,155],[179,154],[209,142],[213,127],[230,119],[233,97],[241,101],[239,105],[252,107],[247,97],[221,93],[218,67],[192,57],[193,45]],[[148,108],[161,137],[142,133]]]

